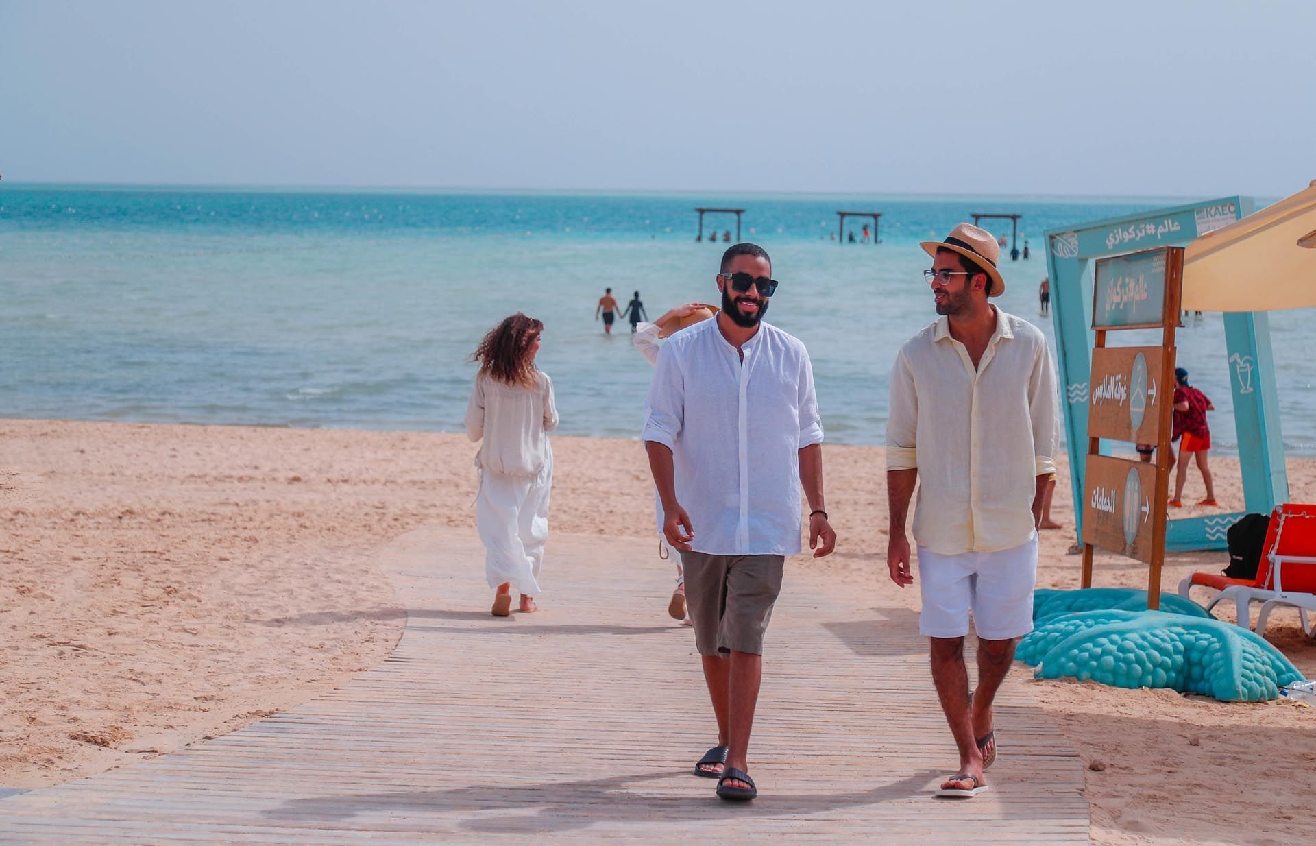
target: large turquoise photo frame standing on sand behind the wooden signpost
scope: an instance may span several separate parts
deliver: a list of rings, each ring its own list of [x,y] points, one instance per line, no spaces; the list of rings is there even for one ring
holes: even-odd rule
[[[1061,408],[1075,503],[1083,499],[1086,472],[1096,259],[1158,246],[1186,246],[1194,238],[1250,214],[1254,209],[1252,197],[1233,196],[1045,233],[1046,268],[1051,279],[1051,321],[1055,326],[1055,351],[1063,391]],[[1225,350],[1221,364],[1229,368],[1230,375],[1246,512],[1171,520],[1166,528],[1167,551],[1225,549],[1225,532],[1244,513],[1269,514],[1277,504],[1288,501],[1284,442],[1279,430],[1279,395],[1270,349],[1270,320],[1265,312],[1230,312],[1224,320]],[[1109,453],[1109,446],[1104,442],[1101,451]],[[1075,537],[1080,539],[1083,509],[1074,510]]]

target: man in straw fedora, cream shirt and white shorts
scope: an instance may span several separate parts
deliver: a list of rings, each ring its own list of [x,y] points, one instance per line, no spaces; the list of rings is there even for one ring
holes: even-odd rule
[[[996,758],[992,700],[1017,638],[1033,630],[1037,524],[1055,471],[1055,370],[1046,338],[988,303],[1005,291],[991,233],[961,224],[920,246],[940,320],[905,342],[891,374],[887,421],[887,567],[913,584],[905,514],[915,483],[913,535],[923,588],[920,633],[959,747],[959,768],[938,796],[986,789]],[[978,688],[969,692],[963,646],[978,630]]]

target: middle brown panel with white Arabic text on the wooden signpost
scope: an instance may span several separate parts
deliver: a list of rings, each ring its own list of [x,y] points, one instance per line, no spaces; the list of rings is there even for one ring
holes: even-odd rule
[[[1174,396],[1174,387],[1161,383],[1166,372],[1163,364],[1165,350],[1158,346],[1092,350],[1088,435],[1157,443],[1161,439],[1161,401]]]

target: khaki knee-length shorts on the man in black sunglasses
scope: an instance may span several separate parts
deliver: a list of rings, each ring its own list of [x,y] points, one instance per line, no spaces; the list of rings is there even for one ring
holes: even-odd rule
[[[682,551],[686,608],[700,655],[763,654],[763,633],[782,592],[784,555]]]

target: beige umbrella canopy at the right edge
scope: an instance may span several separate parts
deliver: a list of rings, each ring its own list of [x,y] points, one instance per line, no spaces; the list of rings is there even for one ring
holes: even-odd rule
[[[1274,312],[1316,305],[1316,180],[1188,245],[1183,308]]]

